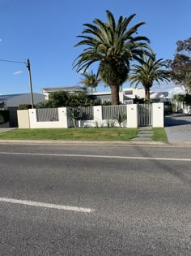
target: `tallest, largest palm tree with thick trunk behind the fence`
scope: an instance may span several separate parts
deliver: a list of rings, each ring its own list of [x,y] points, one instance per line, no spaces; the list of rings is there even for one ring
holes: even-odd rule
[[[112,105],[119,104],[119,89],[127,80],[129,74],[129,62],[139,59],[142,54],[149,54],[146,49],[150,49],[146,37],[136,36],[137,30],[145,22],[135,24],[127,28],[134,15],[116,21],[110,11],[106,11],[108,22],[99,19],[93,20],[93,24],[83,24],[83,33],[75,46],[87,46],[82,54],[74,60],[74,67],[77,72],[91,66],[92,63],[99,63],[98,73],[101,79],[111,89]]]

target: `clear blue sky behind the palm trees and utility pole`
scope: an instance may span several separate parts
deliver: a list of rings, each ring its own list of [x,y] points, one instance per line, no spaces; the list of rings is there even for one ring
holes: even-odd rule
[[[145,21],[138,34],[151,40],[158,59],[172,59],[176,41],[191,36],[190,0],[0,0],[0,59],[30,59],[34,93],[45,87],[78,85],[82,76],[72,63],[83,48],[74,48],[76,36],[84,23],[106,20],[106,10],[116,19],[136,13],[131,25]],[[0,61],[0,94],[28,92],[26,66]]]

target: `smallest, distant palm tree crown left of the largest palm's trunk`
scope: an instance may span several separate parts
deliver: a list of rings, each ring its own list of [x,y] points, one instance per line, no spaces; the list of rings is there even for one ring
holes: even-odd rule
[[[89,87],[92,92],[93,90],[96,91],[96,87],[99,85],[100,80],[101,79],[91,71],[91,73],[83,73],[83,80],[81,80],[80,83],[83,84],[85,88]]]

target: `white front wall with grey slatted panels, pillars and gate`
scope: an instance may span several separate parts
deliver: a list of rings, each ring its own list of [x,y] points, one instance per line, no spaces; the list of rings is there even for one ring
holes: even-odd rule
[[[163,103],[119,105],[119,106],[92,106],[81,109],[85,113],[80,127],[95,127],[96,122],[106,126],[105,120],[111,120],[119,112],[127,115],[124,126],[137,128],[140,126],[163,127]],[[70,118],[67,108],[56,109],[29,109],[17,111],[19,128],[69,128]],[[154,115],[155,113],[155,115]],[[90,121],[88,121],[88,119]],[[57,122],[53,122],[57,121]]]

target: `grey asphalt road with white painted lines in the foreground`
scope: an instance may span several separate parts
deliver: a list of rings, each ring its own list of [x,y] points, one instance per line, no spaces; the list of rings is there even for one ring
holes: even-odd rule
[[[191,148],[0,144],[0,254],[191,255],[190,184]]]

